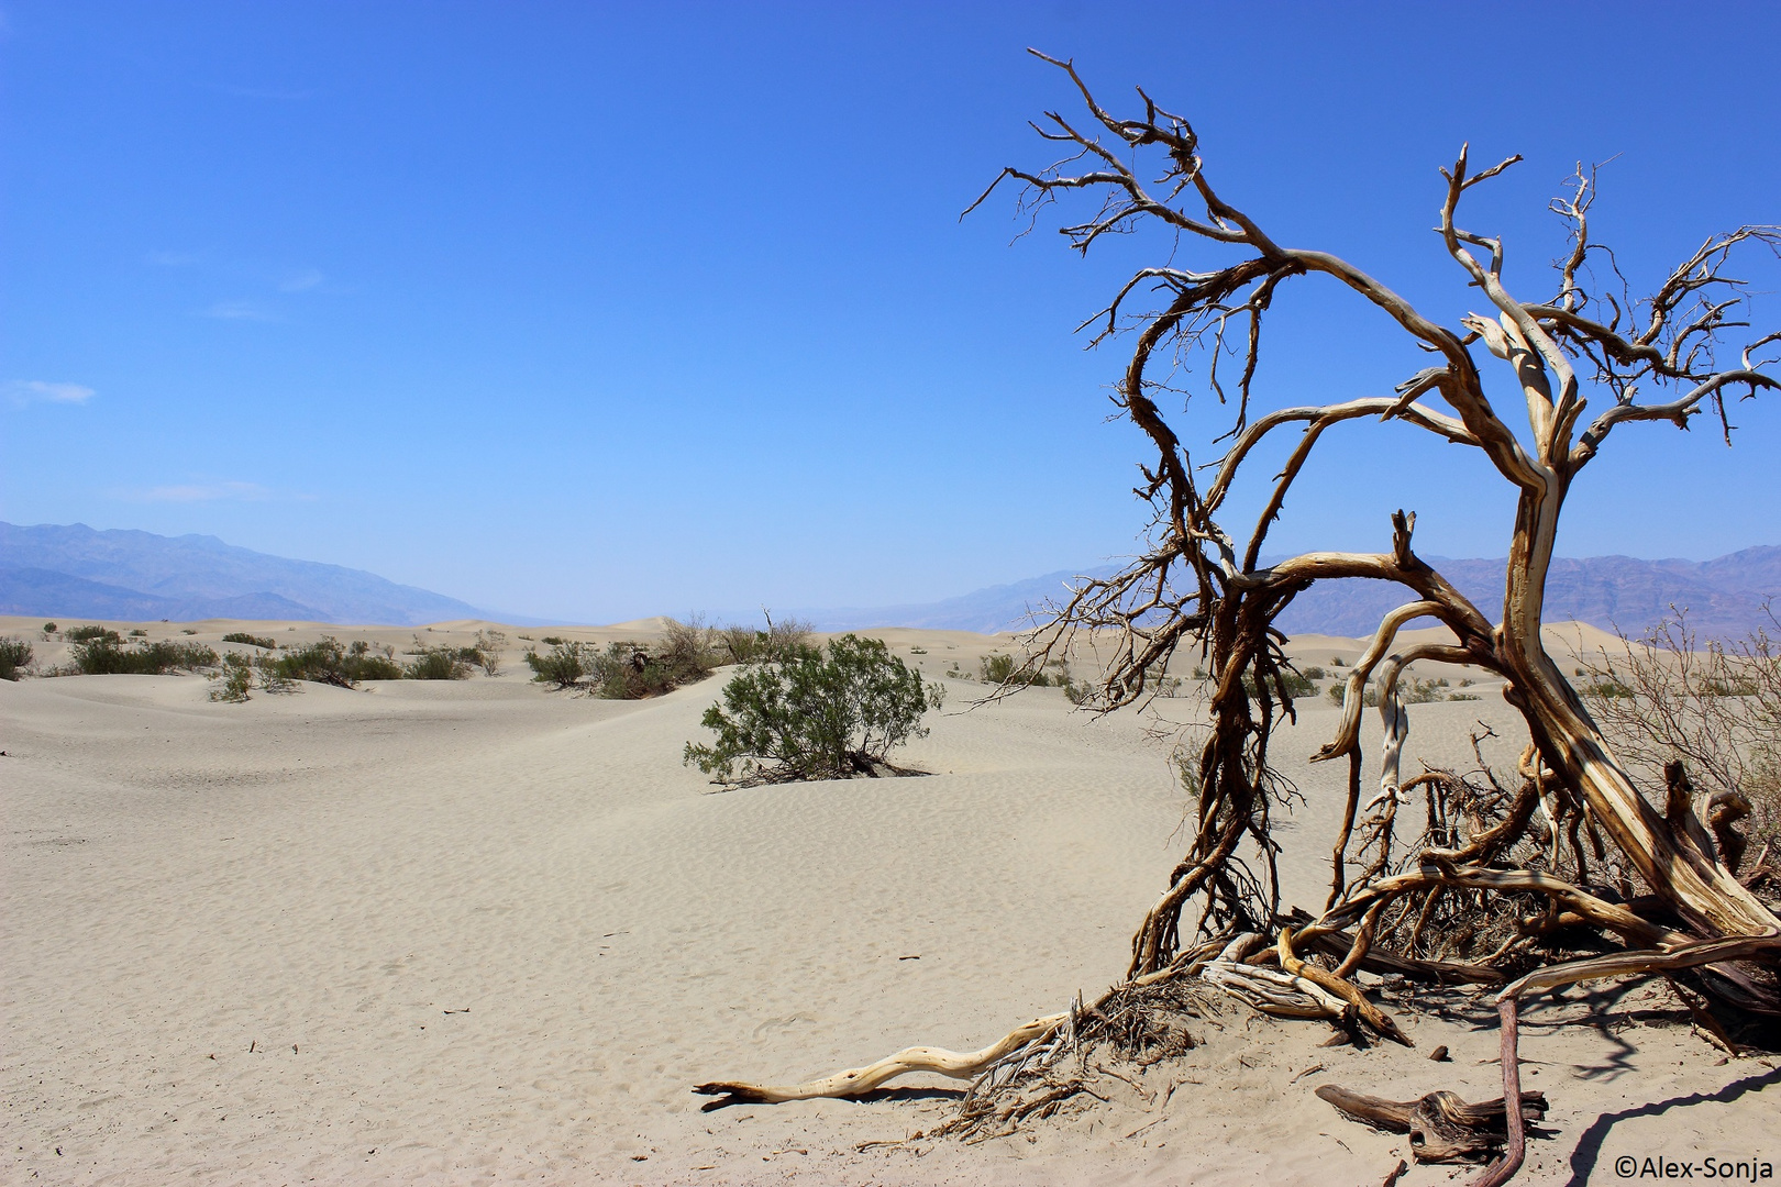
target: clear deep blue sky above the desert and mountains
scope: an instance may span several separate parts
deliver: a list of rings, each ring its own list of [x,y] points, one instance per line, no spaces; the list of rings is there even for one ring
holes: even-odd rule
[[[1435,167],[1546,295],[1544,205],[1614,158],[1647,287],[1781,221],[1781,5],[0,4],[0,518],[208,532],[477,605],[613,621],[949,596],[1134,548],[1124,347],[1072,327],[1167,244],[1083,262],[958,212],[1072,105],[1193,117],[1220,190],[1453,322]],[[1753,279],[1781,290],[1770,263]],[[1781,294],[1758,303],[1781,324]],[[1419,365],[1329,290],[1263,404]],[[1622,427],[1569,555],[1781,543],[1781,413]],[[1336,484],[1338,475],[1354,480]],[[1482,463],[1334,434],[1281,550],[1501,555]]]

